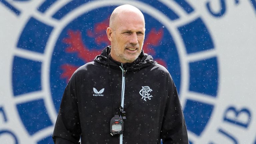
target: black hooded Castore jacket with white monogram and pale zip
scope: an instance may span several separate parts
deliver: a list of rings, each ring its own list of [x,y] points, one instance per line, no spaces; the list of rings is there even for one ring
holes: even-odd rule
[[[120,136],[110,135],[110,120],[119,113],[124,75],[123,144],[160,144],[161,139],[188,144],[178,93],[166,68],[143,51],[133,63],[121,64],[109,57],[110,47],[72,75],[55,124],[55,143],[77,144],[81,137],[82,144],[119,144]]]

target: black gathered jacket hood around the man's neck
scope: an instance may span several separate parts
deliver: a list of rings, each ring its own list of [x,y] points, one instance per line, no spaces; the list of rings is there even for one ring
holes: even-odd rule
[[[94,61],[102,63],[104,65],[109,64],[110,67],[113,67],[113,68],[116,67],[117,69],[120,69],[119,66],[123,65],[123,67],[127,71],[140,69],[143,67],[153,65],[154,63],[157,63],[153,60],[151,55],[144,53],[142,50],[140,55],[134,62],[121,64],[120,62],[117,62],[111,58],[111,56],[109,55],[110,51],[111,51],[111,46],[107,46],[105,49],[102,50],[100,55],[96,56]]]

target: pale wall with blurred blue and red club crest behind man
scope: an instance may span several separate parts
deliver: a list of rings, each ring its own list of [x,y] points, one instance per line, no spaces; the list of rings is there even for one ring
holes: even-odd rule
[[[171,73],[190,143],[256,144],[255,0],[0,0],[0,143],[53,144],[63,90],[122,4],[144,13],[144,52]]]

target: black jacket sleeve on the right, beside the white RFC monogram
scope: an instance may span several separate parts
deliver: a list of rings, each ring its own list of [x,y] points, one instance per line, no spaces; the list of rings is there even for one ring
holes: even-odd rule
[[[169,74],[168,97],[161,129],[163,144],[188,144],[187,128],[176,86]]]

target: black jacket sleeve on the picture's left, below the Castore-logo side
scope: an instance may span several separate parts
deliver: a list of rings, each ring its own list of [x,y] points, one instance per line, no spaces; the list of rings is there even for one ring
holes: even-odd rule
[[[77,105],[76,73],[68,82],[62,100],[58,117],[53,131],[55,144],[78,144],[81,127]]]

